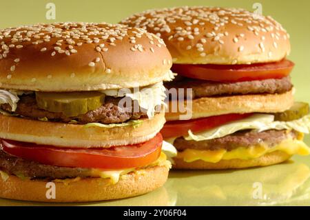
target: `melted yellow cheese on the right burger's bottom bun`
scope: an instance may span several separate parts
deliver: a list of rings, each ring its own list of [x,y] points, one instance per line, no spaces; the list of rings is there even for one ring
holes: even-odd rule
[[[309,155],[310,148],[299,139],[287,139],[282,141],[277,146],[268,148],[268,146],[261,144],[260,146],[254,146],[251,148],[236,148],[234,150],[195,150],[186,149],[183,152],[178,152],[177,158],[183,159],[185,162],[193,162],[197,160],[203,160],[205,162],[217,163],[220,160],[229,159],[256,159],[262,157],[262,155],[281,151],[289,155]]]

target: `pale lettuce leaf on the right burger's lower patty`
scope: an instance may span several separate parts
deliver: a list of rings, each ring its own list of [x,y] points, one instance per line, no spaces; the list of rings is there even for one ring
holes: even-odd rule
[[[246,119],[241,119],[231,123],[227,123],[217,128],[198,132],[194,134],[191,130],[188,131],[189,136],[185,137],[187,141],[205,141],[224,137],[228,134],[233,134],[239,130],[253,129],[257,132],[265,130],[296,130],[298,132],[309,134],[310,130],[310,114],[294,121],[273,121],[272,114],[254,114]]]

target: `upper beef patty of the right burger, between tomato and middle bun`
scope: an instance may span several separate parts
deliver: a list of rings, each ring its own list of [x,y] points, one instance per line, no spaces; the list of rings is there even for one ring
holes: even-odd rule
[[[283,93],[291,90],[290,77],[282,79],[264,79],[255,81],[241,81],[234,83],[222,83],[204,81],[200,79],[183,78],[180,81],[165,83],[167,89],[184,88],[185,94],[187,88],[192,88],[192,98],[213,97],[219,95],[231,94],[260,94],[260,93]]]

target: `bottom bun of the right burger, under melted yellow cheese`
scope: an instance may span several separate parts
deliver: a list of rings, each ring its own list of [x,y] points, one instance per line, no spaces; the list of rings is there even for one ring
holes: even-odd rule
[[[276,163],[282,163],[287,161],[291,155],[282,152],[275,151],[265,154],[262,157],[256,159],[231,159],[231,160],[221,160],[217,163],[205,162],[202,160],[193,161],[187,163],[180,158],[174,158],[174,169],[184,169],[184,170],[224,170],[224,169],[240,169],[240,168],[252,168],[256,166],[269,166]]]

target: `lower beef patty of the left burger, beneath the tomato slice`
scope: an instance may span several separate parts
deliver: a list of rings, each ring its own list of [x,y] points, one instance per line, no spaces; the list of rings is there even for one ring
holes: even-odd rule
[[[13,157],[0,148],[0,170],[9,174],[29,178],[65,179],[75,177],[90,177],[91,170],[87,168],[65,168],[43,165]]]

